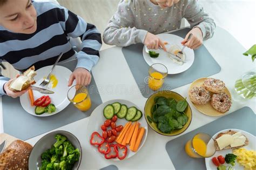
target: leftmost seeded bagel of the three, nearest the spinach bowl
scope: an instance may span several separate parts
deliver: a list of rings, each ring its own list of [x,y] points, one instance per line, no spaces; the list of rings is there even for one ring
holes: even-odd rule
[[[210,92],[205,90],[204,87],[193,87],[188,95],[190,100],[197,105],[205,105],[211,99]]]

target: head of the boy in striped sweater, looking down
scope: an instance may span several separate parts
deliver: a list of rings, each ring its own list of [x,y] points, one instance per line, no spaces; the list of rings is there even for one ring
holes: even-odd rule
[[[0,0],[0,25],[15,33],[34,33],[37,13],[31,0]]]

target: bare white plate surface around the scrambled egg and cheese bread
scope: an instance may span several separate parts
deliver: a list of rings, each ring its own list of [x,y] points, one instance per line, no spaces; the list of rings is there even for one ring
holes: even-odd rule
[[[221,132],[227,132],[228,130],[232,130],[232,131],[236,131],[236,132],[241,132],[242,134],[245,135],[245,137],[249,140],[249,145],[245,146],[244,148],[246,148],[247,150],[254,150],[255,151],[255,142],[256,142],[256,139],[255,139],[255,136],[252,135],[251,133],[248,133],[248,132],[245,132],[245,131],[242,131],[242,130],[237,130],[237,129],[227,129],[227,130],[223,130],[223,131],[220,131],[216,134],[213,135],[213,139],[215,139],[215,137],[217,137],[217,135]],[[228,153],[232,153],[232,149],[227,149],[227,150],[223,150],[223,151],[216,151],[216,153],[210,157],[210,158],[205,158],[205,165],[206,165],[206,168],[207,169],[217,169],[217,167],[213,164],[212,162],[212,158],[213,157],[218,157],[219,155],[223,155],[223,157],[225,157],[226,154]],[[230,164],[224,164],[226,166],[231,166]],[[238,162],[235,162],[235,166],[234,166],[234,169],[244,169],[243,166],[241,166]]]

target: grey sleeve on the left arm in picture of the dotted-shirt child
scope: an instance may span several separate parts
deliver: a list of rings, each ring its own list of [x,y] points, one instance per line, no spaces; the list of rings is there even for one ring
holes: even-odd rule
[[[110,19],[103,33],[106,44],[117,46],[129,46],[136,43],[144,43],[147,31],[134,27],[136,12],[135,1],[121,1],[117,12]]]

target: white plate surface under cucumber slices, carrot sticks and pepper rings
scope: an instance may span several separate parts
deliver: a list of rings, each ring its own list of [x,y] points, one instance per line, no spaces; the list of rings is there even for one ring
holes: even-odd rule
[[[100,128],[100,126],[102,126],[104,124],[104,121],[106,120],[106,118],[103,115],[104,107],[106,105],[109,105],[109,104],[112,104],[112,103],[115,103],[115,102],[119,102],[120,104],[124,104],[128,108],[134,106],[134,107],[138,108],[138,110],[142,111],[142,113],[144,114],[143,110],[141,110],[137,105],[131,103],[130,101],[121,100],[121,99],[106,101],[105,103],[103,103],[103,104],[101,104],[101,105],[99,105],[98,107],[95,108],[95,110],[92,112],[92,114],[89,118],[89,123],[88,123],[88,126],[87,126],[87,129],[88,129],[88,132],[89,132],[89,135],[90,135],[90,138],[89,138],[88,142],[89,142],[89,145],[91,146],[91,148],[103,158],[104,158],[104,154],[99,153],[98,147],[92,146],[90,144],[91,134],[93,132],[98,132],[100,135],[102,135],[102,129]],[[118,118],[117,121],[116,121],[116,124],[117,124],[117,126],[119,126],[119,125],[124,126],[127,122],[128,121],[125,120],[125,118],[123,118],[123,119]],[[143,146],[143,144],[144,144],[144,142],[146,141],[146,138],[147,138],[147,122],[144,118],[144,115],[142,115],[142,118],[140,118],[138,120],[138,122],[140,123],[140,127],[145,128],[145,133],[144,133],[142,142],[140,143],[140,146],[139,146],[137,152],[139,152],[139,149],[142,148],[142,146]],[[126,155],[125,159],[131,158],[137,152],[130,151],[129,146],[127,146],[127,155]],[[110,159],[110,160],[119,160],[119,159],[115,158],[115,159]]]

